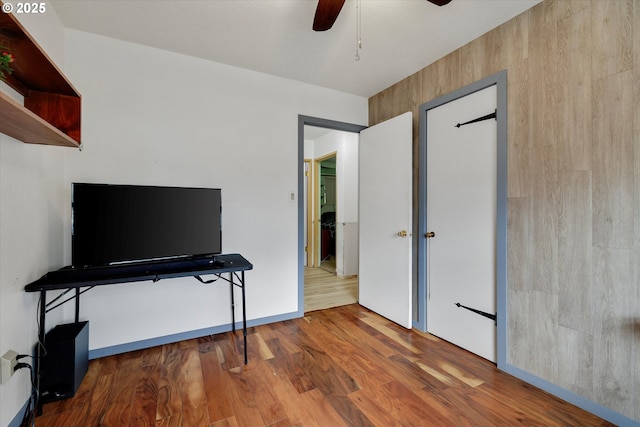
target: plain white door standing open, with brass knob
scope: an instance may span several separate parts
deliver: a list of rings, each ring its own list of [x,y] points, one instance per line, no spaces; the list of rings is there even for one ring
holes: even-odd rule
[[[411,328],[412,114],[360,133],[361,305]]]

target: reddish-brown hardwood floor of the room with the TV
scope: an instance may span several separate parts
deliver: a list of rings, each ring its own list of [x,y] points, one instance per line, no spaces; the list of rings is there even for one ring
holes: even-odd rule
[[[92,360],[52,426],[611,426],[357,304]]]

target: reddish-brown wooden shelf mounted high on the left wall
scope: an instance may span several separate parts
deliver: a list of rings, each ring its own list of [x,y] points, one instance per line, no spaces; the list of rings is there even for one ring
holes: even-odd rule
[[[6,83],[24,96],[21,105],[0,92],[0,132],[29,144],[80,147],[80,94],[9,13],[0,13],[0,46],[15,58]]]

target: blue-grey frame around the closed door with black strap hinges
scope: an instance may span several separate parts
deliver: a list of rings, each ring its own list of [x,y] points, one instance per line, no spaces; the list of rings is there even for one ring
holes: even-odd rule
[[[427,330],[427,111],[496,85],[497,90],[497,194],[496,194],[496,309],[497,365],[507,363],[507,71],[503,70],[419,107],[418,166],[418,289],[414,302],[414,327]]]

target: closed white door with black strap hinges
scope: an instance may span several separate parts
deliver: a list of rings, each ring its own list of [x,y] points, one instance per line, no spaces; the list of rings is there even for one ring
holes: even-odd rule
[[[496,94],[427,111],[427,331],[493,362],[496,322],[472,310],[496,313],[497,126],[456,124],[494,113]]]

